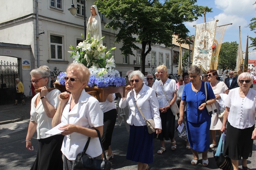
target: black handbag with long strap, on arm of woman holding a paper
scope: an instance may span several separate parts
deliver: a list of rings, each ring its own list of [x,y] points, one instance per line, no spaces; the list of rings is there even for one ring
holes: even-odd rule
[[[93,159],[91,156],[85,153],[90,143],[91,138],[89,137],[88,141],[85,144],[83,152],[79,153],[76,157],[75,165],[74,165],[75,169],[80,169],[80,170],[110,170],[111,169],[111,163],[107,160],[105,151],[103,149],[100,133],[97,129],[95,130],[97,131],[97,134],[100,140],[102,152],[104,155],[104,160]]]

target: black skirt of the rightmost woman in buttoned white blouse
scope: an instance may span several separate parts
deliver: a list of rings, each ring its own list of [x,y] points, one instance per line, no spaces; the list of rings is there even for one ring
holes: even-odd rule
[[[233,160],[248,159],[252,156],[252,132],[254,125],[245,129],[238,129],[228,122],[227,136],[224,144],[223,155],[228,155]]]

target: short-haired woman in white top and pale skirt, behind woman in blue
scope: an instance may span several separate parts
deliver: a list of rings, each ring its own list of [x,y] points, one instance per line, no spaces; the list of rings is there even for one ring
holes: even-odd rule
[[[212,138],[212,143],[210,144],[209,148],[215,148],[216,147],[216,130],[218,131],[219,137],[221,137],[221,128],[222,128],[222,122],[223,118],[219,118],[219,112],[220,112],[220,104],[219,100],[221,99],[221,94],[229,93],[229,88],[223,81],[218,81],[218,72],[217,70],[208,70],[207,71],[207,78],[208,82],[210,82],[211,88],[214,91],[214,95],[216,97],[215,106],[217,108],[217,113],[212,113],[211,115],[211,125],[210,125],[210,133]]]

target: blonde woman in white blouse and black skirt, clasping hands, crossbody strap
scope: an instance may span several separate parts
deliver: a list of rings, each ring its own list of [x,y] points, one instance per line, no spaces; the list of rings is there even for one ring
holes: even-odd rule
[[[176,81],[168,78],[167,67],[165,65],[160,65],[157,67],[157,72],[160,76],[160,80],[155,82],[152,88],[157,93],[160,117],[162,120],[163,132],[158,137],[161,142],[161,148],[157,151],[158,154],[162,154],[166,150],[164,140],[171,139],[171,150],[173,151],[176,149],[176,141],[174,139],[175,115],[173,115],[171,111],[171,105],[176,102],[177,92]]]

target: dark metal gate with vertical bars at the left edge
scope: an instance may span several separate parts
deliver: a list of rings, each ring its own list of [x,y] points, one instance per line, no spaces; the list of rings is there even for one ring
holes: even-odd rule
[[[0,104],[14,102],[15,79],[20,78],[19,59],[17,63],[0,61]]]

